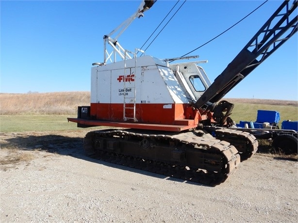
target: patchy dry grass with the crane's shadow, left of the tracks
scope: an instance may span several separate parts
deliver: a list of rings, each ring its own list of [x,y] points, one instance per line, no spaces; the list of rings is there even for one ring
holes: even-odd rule
[[[31,131],[0,133],[0,170],[15,168],[16,164],[52,154],[71,155],[82,149],[83,137],[90,130]],[[46,152],[46,153],[40,153]]]

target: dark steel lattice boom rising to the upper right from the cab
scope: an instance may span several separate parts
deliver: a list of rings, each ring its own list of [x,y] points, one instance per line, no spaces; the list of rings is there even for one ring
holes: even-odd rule
[[[297,5],[297,0],[294,0],[292,5],[289,0],[282,2],[276,12],[199,97],[195,103],[196,108],[210,108],[211,104],[225,96],[297,32]]]

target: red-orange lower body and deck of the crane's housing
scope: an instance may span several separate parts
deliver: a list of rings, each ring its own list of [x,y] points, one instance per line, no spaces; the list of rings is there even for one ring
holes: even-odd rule
[[[126,105],[128,106],[128,105]],[[123,121],[123,104],[91,103],[90,118],[68,118],[68,121],[86,126],[110,126],[162,131],[183,131],[198,127],[201,120],[210,117],[201,115],[189,104],[172,104],[165,109],[163,104],[136,104],[137,122]],[[129,110],[128,110],[129,111]],[[132,114],[126,114],[127,117]]]

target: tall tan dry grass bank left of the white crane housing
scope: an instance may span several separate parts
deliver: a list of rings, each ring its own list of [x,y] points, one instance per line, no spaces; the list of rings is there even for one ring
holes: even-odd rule
[[[0,93],[0,114],[76,114],[79,105],[90,104],[89,92],[31,94]]]

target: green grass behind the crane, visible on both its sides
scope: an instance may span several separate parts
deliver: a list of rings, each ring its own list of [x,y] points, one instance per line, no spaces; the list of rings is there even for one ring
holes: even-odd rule
[[[283,120],[298,120],[298,107],[248,103],[235,104],[231,117],[236,123],[239,123],[239,121],[256,121],[257,110],[270,110],[280,112],[280,127],[281,122]],[[78,129],[76,123],[67,122],[67,117],[76,117],[76,115],[0,115],[0,132],[54,131]]]

